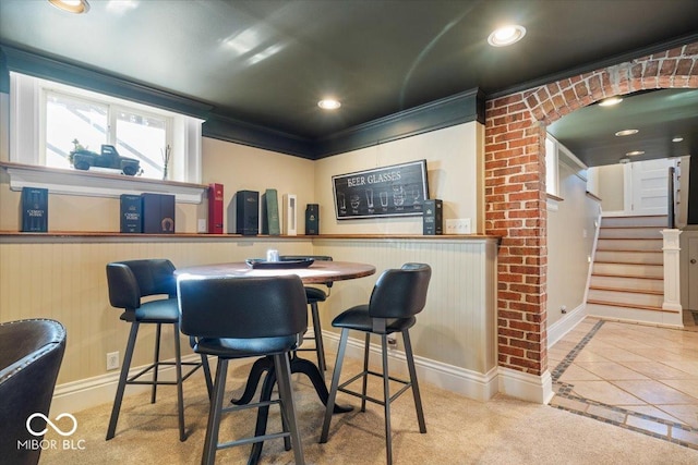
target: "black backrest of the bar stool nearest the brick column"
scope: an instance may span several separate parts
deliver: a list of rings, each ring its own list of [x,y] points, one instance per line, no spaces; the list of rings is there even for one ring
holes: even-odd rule
[[[373,287],[369,303],[372,318],[410,318],[426,305],[432,269],[425,264],[405,264],[385,270]]]

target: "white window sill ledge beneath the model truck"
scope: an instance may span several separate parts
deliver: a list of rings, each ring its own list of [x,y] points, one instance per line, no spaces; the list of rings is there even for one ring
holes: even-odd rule
[[[122,174],[84,172],[32,164],[0,162],[10,176],[10,189],[46,187],[52,194],[83,195],[88,197],[119,197],[122,194],[140,195],[144,192],[171,194],[184,204],[201,204],[208,186],[173,181],[132,178]]]

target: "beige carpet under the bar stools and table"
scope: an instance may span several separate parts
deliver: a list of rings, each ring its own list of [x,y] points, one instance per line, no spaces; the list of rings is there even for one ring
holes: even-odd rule
[[[334,360],[334,356],[329,357]],[[250,363],[232,363],[228,392],[239,395]],[[350,376],[359,364],[348,359],[344,374]],[[329,371],[326,376],[329,378]],[[308,379],[294,375],[297,412],[309,464],[383,464],[385,439],[382,407],[369,404],[335,415],[329,441],[318,444],[324,407]],[[377,386],[376,386],[377,387]],[[546,405],[531,404],[498,395],[476,402],[422,383],[428,432],[420,435],[412,397],[402,395],[393,404],[393,453],[398,464],[696,464],[698,451],[667,441],[581,417]],[[45,450],[40,464],[197,464],[206,429],[208,401],[203,376],[196,374],[184,386],[185,423],[189,439],[180,442],[177,430],[176,390],[163,387],[156,404],[147,394],[124,400],[117,436],[105,441],[111,404],[75,413],[79,421],[73,443],[82,450]],[[127,391],[128,394],[128,391]],[[342,404],[359,400],[340,394]],[[230,414],[221,427],[221,440],[249,435],[254,417]],[[278,407],[273,408],[269,430],[278,427]],[[46,439],[62,441],[55,432]],[[249,446],[219,451],[217,463],[245,463]],[[267,441],[264,464],[293,463],[282,440]]]

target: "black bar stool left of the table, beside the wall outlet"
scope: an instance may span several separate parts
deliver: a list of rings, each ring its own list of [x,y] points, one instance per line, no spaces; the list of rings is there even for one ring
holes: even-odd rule
[[[123,356],[119,386],[111,409],[107,440],[113,438],[119,420],[119,411],[123,401],[127,384],[149,384],[153,387],[151,403],[155,403],[159,384],[177,386],[177,407],[179,414],[179,440],[185,441],[184,432],[184,394],[182,382],[200,367],[203,367],[208,395],[213,390],[208,359],[202,355],[201,362],[182,362],[179,331],[179,308],[177,304],[177,279],[174,266],[167,259],[144,259],[115,261],[107,265],[107,283],[109,285],[109,303],[112,307],[123,308],[121,319],[131,323],[127,352]],[[166,297],[142,303],[142,297],[164,295]],[[141,323],[157,325],[155,335],[155,356],[153,364],[129,377],[131,360],[135,348],[136,336]],[[174,334],[174,362],[160,360],[160,333],[163,325],[172,325]],[[193,341],[192,345],[193,345]],[[174,381],[158,380],[160,367],[174,366]],[[191,370],[182,375],[182,366],[191,366]],[[152,374],[152,379],[141,377]]]

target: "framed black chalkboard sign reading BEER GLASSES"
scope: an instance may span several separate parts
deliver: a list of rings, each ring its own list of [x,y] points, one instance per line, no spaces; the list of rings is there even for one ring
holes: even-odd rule
[[[332,176],[338,220],[417,217],[429,198],[426,160]]]

